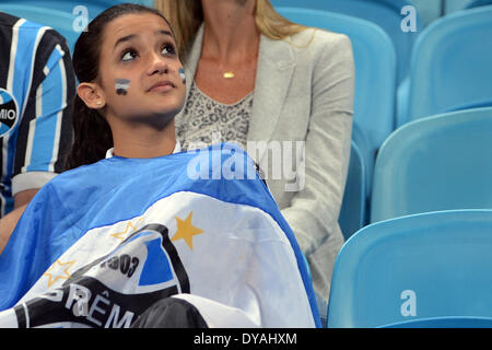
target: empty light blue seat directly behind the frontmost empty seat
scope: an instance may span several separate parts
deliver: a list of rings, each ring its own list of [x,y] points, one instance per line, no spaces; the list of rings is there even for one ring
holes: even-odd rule
[[[371,222],[449,209],[492,209],[492,108],[409,122],[379,150]]]

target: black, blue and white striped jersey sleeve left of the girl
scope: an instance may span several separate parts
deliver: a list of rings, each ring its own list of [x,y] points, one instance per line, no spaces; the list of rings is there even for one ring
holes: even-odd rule
[[[51,28],[36,48],[32,74],[15,144],[12,196],[40,188],[61,173],[72,142],[75,78],[66,40]]]

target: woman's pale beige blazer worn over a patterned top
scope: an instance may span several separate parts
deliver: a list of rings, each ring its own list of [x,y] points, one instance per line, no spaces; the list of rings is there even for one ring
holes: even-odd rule
[[[202,38],[203,25],[184,62],[187,77],[195,77]],[[187,96],[189,90],[188,83]],[[249,155],[262,168],[273,198],[309,261],[315,291],[325,302],[335,258],[343,244],[338,217],[350,158],[353,93],[352,46],[345,35],[312,28],[285,40],[261,35],[247,140],[267,144],[304,141],[304,187],[286,191],[285,186],[292,182],[284,176],[269,176],[271,153]],[[293,147],[294,158],[295,153]],[[296,171],[301,174],[302,165]]]

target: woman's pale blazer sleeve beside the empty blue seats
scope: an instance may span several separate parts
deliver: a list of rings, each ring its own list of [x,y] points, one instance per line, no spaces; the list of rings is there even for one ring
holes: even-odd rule
[[[337,35],[336,38],[325,45],[313,72],[305,186],[295,194],[291,206],[282,210],[306,255],[336,230],[349,166],[353,55],[347,36]]]

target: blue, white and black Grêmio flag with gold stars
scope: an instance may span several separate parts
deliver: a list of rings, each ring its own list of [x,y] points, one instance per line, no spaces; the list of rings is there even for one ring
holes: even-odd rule
[[[0,327],[129,327],[167,298],[209,327],[320,326],[294,235],[238,147],[60,174],[0,255]]]

